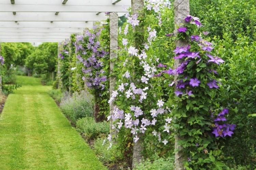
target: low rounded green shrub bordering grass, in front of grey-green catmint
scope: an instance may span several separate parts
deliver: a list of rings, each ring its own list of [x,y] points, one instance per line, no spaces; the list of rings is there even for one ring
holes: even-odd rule
[[[93,117],[85,117],[76,122],[77,130],[89,139],[94,139],[100,134],[108,134],[109,126],[109,122],[106,121],[96,123]]]

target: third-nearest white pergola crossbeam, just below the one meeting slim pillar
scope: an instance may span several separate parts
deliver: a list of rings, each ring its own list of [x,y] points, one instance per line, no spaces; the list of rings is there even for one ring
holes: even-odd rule
[[[93,22],[8,22],[0,21],[0,28],[92,28]]]

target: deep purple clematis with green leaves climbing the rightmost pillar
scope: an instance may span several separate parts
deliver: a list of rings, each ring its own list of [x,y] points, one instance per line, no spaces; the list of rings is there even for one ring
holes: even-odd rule
[[[181,64],[175,69],[169,69],[168,74],[175,76],[169,86],[175,86],[175,106],[172,111],[175,117],[176,133],[183,140],[179,141],[187,162],[187,169],[214,168],[221,166],[215,157],[221,152],[214,145],[214,137],[232,136],[236,125],[222,123],[226,121],[228,109],[223,109],[217,118],[213,118],[211,108],[213,89],[221,85],[217,81],[217,66],[224,61],[214,55],[213,44],[198,35],[202,27],[199,18],[187,16],[185,24],[177,28],[176,39],[183,39],[189,45],[176,47],[173,51],[175,59]],[[219,110],[221,108],[217,108]]]

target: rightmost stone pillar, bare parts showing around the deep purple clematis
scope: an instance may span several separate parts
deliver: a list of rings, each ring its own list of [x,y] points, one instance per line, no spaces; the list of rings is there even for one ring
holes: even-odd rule
[[[182,26],[185,23],[186,16],[189,15],[189,0],[174,0],[174,24],[175,27]],[[175,34],[177,33],[177,29],[175,29]],[[184,40],[176,40],[175,46],[182,47],[187,45]],[[177,68],[180,65],[179,59],[174,60],[174,68]],[[178,145],[178,141],[181,140],[181,136],[177,133],[175,136],[175,170],[184,170],[183,162],[185,160],[184,153],[182,151],[182,147]]]

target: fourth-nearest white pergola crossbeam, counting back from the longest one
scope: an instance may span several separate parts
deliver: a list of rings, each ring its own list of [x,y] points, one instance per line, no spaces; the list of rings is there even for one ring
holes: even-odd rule
[[[82,33],[84,28],[0,28],[1,33]]]

